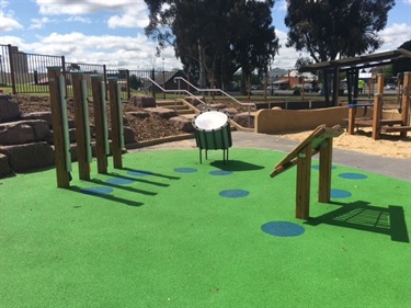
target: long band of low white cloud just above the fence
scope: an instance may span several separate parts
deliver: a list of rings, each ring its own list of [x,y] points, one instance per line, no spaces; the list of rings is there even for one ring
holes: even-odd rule
[[[162,68],[162,58],[167,70],[181,68],[181,62],[174,57],[174,50],[169,47],[160,57],[156,56],[156,43],[145,35],[113,36],[84,35],[79,32],[69,34],[52,33],[39,37],[36,43],[28,44],[22,38],[0,36],[1,42],[19,46],[25,53],[65,56],[68,62],[105,64],[109,69],[127,68],[156,69]]]

